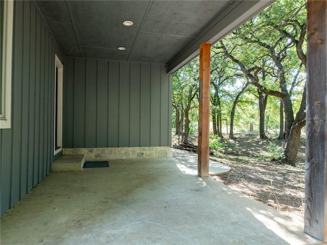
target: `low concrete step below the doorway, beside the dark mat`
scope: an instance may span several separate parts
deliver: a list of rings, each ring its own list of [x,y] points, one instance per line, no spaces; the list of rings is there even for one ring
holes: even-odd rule
[[[85,154],[61,155],[51,165],[51,171],[81,171],[85,163]]]

